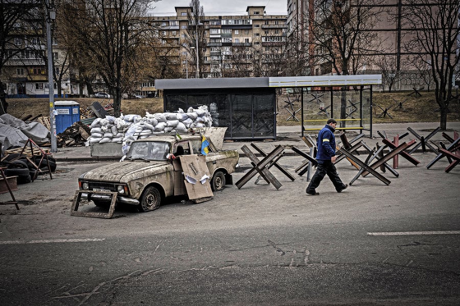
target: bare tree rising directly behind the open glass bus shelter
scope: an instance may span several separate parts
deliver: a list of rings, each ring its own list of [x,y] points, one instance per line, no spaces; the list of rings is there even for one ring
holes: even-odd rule
[[[312,44],[312,71],[320,74],[335,73],[350,75],[363,65],[363,56],[377,52],[379,42],[372,31],[383,0],[314,0],[308,16],[311,29],[309,43]],[[340,119],[347,115],[346,87],[342,87]],[[345,127],[340,121],[340,127]]]

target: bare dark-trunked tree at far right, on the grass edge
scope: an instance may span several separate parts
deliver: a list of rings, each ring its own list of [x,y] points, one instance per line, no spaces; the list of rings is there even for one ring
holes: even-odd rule
[[[404,9],[408,16],[405,22],[413,29],[408,33],[406,49],[421,54],[419,60],[430,67],[435,100],[440,107],[440,127],[446,130],[454,73],[460,59],[460,0],[409,0]]]

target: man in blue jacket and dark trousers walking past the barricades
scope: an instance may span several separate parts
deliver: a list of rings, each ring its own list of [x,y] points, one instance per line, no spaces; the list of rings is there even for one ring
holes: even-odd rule
[[[316,192],[316,187],[319,186],[319,183],[321,180],[323,180],[326,174],[334,184],[335,190],[337,192],[342,192],[348,187],[348,184],[344,184],[340,180],[340,177],[337,174],[337,169],[334,166],[335,159],[337,158],[337,156],[335,156],[334,136],[336,125],[337,121],[334,119],[329,119],[326,123],[326,126],[319,131],[317,140],[318,153],[316,154],[318,166],[306,190],[307,194],[309,195],[319,195],[319,193]]]

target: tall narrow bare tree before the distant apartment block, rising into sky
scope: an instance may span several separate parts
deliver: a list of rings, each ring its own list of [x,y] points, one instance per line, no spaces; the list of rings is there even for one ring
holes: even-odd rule
[[[204,9],[200,5],[200,0],[191,0],[190,7],[192,8],[187,12],[187,19],[189,25],[187,27],[187,50],[192,55],[191,62],[195,63],[198,67],[198,72],[195,73],[198,78],[203,76],[203,56],[201,50],[206,45],[206,36],[204,35]],[[197,64],[198,59],[198,64]]]

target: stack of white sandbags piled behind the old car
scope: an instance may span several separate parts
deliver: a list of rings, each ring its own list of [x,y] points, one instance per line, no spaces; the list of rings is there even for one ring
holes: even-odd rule
[[[131,143],[139,138],[155,133],[187,131],[190,128],[211,127],[213,119],[207,106],[197,109],[190,107],[187,112],[179,108],[178,112],[140,115],[121,115],[119,118],[106,116],[96,119],[90,126],[89,144],[122,143],[122,151],[126,154]]]

